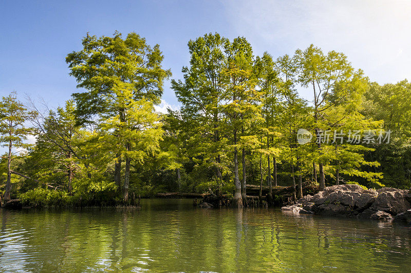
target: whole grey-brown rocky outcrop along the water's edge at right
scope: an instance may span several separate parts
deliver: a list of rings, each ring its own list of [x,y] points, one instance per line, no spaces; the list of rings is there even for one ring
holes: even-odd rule
[[[411,224],[411,190],[365,190],[359,185],[336,185],[298,199],[283,211],[326,216],[358,217]]]

